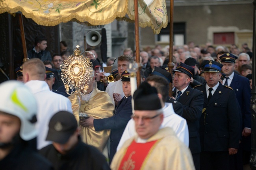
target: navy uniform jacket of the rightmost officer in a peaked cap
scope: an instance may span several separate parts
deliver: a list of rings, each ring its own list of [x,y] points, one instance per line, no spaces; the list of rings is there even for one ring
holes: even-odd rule
[[[240,105],[243,125],[242,127],[251,128],[251,112],[250,112],[250,81],[248,78],[234,74],[230,87],[236,92],[236,99]]]

